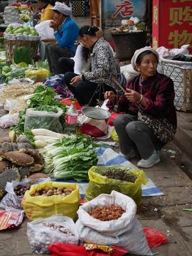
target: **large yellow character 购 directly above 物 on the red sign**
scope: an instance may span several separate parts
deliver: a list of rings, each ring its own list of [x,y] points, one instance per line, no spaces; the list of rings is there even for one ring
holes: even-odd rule
[[[174,26],[174,24],[181,25],[183,22],[188,21],[189,25],[192,25],[192,9],[189,6],[183,8],[171,8],[170,9],[170,26]]]

